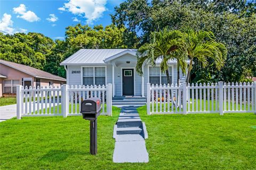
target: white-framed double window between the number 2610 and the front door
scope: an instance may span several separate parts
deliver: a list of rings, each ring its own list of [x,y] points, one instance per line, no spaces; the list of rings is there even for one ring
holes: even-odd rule
[[[83,85],[106,85],[106,67],[83,67]]]

